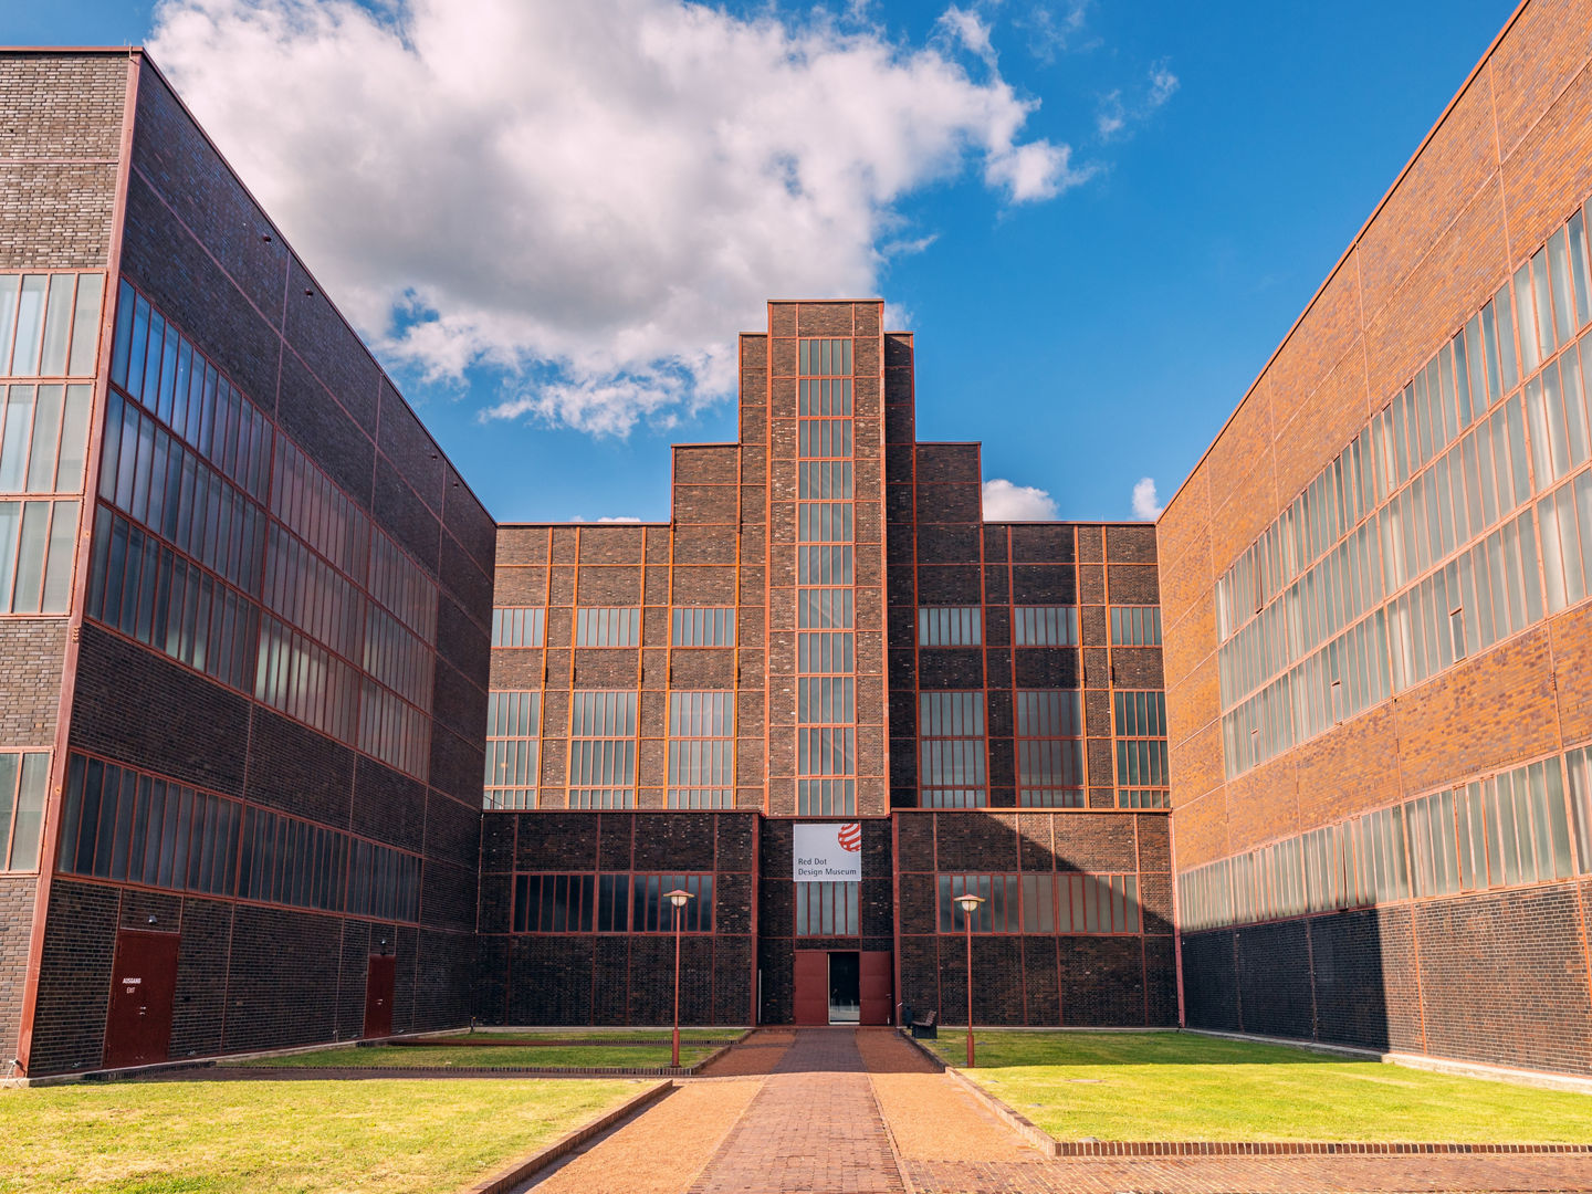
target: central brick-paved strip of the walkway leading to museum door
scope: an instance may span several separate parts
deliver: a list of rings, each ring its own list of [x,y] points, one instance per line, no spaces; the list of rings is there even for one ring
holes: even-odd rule
[[[802,1028],[693,1194],[904,1194],[850,1028]]]

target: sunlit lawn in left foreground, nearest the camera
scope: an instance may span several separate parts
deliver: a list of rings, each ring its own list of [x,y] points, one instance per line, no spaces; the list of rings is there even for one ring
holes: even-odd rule
[[[0,1091],[0,1194],[458,1191],[648,1084],[554,1078]]]

